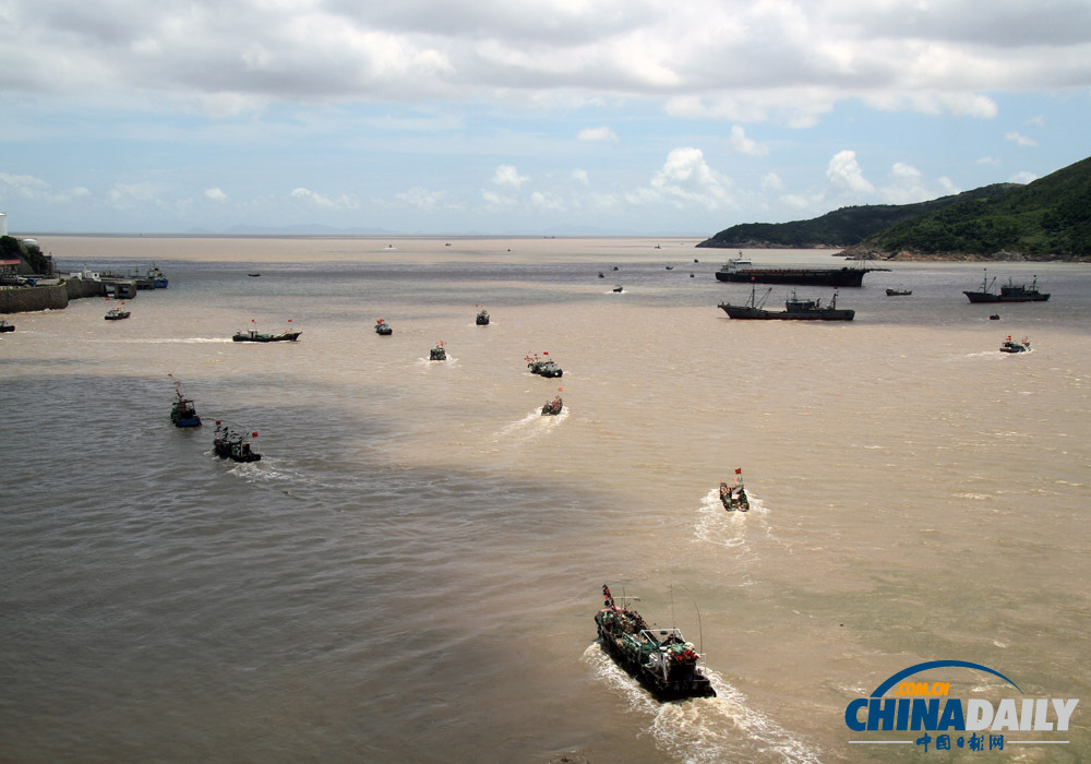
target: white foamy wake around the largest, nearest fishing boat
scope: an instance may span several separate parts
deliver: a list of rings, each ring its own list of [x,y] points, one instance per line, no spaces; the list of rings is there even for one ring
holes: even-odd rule
[[[752,510],[753,511],[753,510]],[[721,676],[705,668],[716,697],[682,703],[657,703],[623,671],[598,642],[584,650],[583,660],[597,679],[628,701],[633,713],[649,717],[648,732],[660,751],[687,764],[718,762],[793,762],[819,764],[819,752],[759,711]]]

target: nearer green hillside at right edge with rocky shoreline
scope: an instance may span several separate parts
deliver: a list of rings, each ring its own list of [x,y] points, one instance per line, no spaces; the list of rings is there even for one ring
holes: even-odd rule
[[[868,236],[847,254],[1091,261],[1091,158]]]

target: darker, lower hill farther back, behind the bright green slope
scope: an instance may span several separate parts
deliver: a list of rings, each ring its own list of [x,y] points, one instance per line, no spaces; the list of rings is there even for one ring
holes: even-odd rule
[[[994,183],[973,191],[940,196],[915,204],[865,204],[841,207],[822,217],[792,223],[744,223],[721,230],[697,247],[723,249],[783,248],[808,249],[828,247],[843,249],[886,230],[903,220],[943,210],[963,201],[987,199],[1003,193],[1016,183]]]

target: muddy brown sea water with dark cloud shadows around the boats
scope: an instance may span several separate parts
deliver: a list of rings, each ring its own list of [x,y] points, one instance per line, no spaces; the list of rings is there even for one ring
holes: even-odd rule
[[[170,287],[0,337],[0,761],[915,761],[844,708],[940,659],[1091,703],[1087,264],[992,264],[1051,300],[970,306],[980,263],[894,263],[851,323],[745,322],[696,240],[39,241]],[[215,457],[217,419],[264,458]],[[603,583],[717,697],[618,669]],[[1091,757],[1086,708],[1065,739],[1004,755]]]

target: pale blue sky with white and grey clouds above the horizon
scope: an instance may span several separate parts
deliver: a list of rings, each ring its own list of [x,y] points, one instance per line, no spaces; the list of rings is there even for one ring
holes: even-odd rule
[[[1089,0],[0,0],[12,234],[711,236],[1091,156]]]

